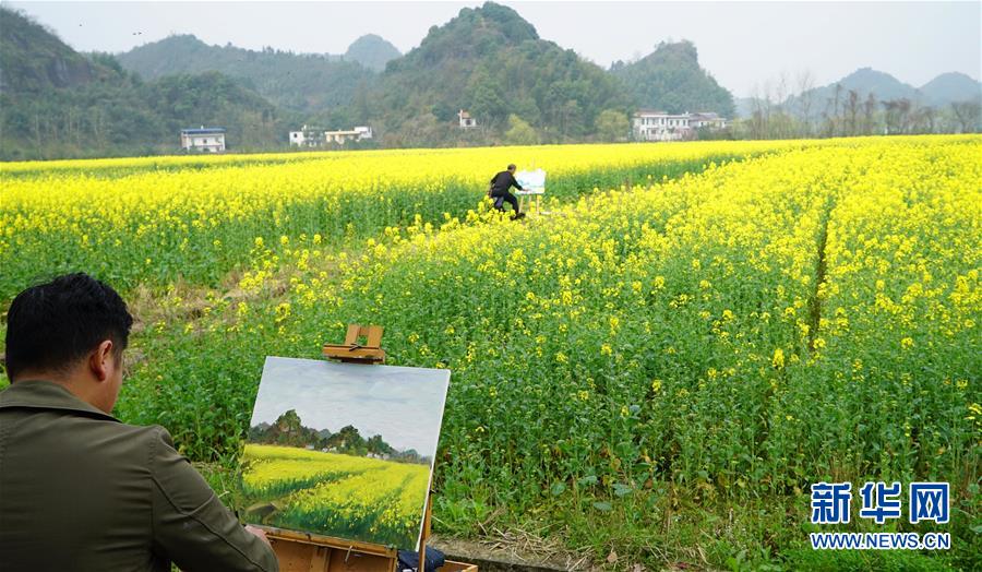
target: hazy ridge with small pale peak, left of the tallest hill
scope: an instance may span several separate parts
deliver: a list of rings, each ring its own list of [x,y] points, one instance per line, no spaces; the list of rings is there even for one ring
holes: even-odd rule
[[[385,46],[392,45],[375,38],[359,38],[351,45],[359,58],[369,58],[372,64],[391,56]],[[145,44],[118,55],[117,59],[144,80],[220,72],[240,80],[279,107],[308,114],[351,103],[359,86],[371,83],[374,75],[369,68],[345,61],[343,56],[209,46],[192,35],[175,35]]]

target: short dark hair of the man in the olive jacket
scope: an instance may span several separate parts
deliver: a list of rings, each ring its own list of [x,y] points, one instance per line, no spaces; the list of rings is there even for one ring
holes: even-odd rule
[[[63,371],[104,339],[117,357],[127,347],[133,317],[111,287],[79,273],[39,284],[14,298],[7,312],[7,377]]]

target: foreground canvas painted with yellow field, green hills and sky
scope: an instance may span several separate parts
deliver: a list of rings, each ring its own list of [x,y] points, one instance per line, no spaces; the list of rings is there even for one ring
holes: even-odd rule
[[[448,384],[448,370],[266,358],[246,520],[418,550]]]

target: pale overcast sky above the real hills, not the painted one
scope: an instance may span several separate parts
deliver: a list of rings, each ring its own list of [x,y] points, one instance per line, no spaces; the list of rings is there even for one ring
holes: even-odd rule
[[[481,2],[3,2],[77,50],[125,51],[170,34],[208,44],[343,53],[374,33],[406,52],[432,25]],[[691,39],[735,96],[785,73],[834,82],[871,67],[920,87],[982,74],[982,2],[512,2],[539,32],[603,67]]]

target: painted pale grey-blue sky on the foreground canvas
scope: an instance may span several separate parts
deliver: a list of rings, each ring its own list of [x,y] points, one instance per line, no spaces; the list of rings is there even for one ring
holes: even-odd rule
[[[364,439],[381,434],[432,458],[448,382],[445,369],[267,357],[249,425],[272,425],[296,409],[303,427],[336,433],[354,425]]]

